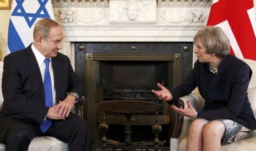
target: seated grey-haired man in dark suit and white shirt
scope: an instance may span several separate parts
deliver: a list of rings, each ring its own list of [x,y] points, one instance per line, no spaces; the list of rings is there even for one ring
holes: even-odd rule
[[[68,57],[58,53],[62,49],[62,28],[51,19],[41,19],[33,36],[28,48],[4,58],[0,142],[6,144],[6,150],[20,151],[28,150],[36,136],[52,136],[69,143],[69,150],[90,151],[88,122],[70,112],[83,95],[84,86]],[[50,59],[50,93],[45,92],[43,84],[46,58]],[[52,105],[47,107],[49,96]],[[46,120],[50,127],[42,130]]]

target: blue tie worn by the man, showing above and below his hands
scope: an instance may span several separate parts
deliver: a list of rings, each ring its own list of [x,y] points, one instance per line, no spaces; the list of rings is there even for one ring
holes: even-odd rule
[[[45,78],[43,80],[43,88],[45,89],[45,106],[52,107],[52,83],[51,75],[49,72],[50,59],[45,59]],[[40,126],[41,131],[46,132],[52,125],[52,120],[46,118],[43,124]]]

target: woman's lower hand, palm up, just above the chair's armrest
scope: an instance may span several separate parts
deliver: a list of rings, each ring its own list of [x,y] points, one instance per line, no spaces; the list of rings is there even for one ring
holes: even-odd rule
[[[195,111],[194,107],[190,104],[189,101],[187,101],[187,104],[188,104],[188,108],[186,109],[183,109],[182,107],[178,108],[176,106],[171,106],[171,108],[177,113],[182,114],[184,117],[197,118],[195,115],[195,112],[197,111]]]

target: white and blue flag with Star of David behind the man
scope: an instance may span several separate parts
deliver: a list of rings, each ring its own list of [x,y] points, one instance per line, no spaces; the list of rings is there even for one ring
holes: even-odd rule
[[[41,18],[54,20],[51,0],[13,0],[8,29],[8,53],[33,42],[35,23]]]

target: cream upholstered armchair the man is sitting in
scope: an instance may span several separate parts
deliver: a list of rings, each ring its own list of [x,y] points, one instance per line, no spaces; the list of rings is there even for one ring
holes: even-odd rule
[[[0,83],[2,83],[2,73],[3,73],[3,61],[0,61]],[[85,98],[81,97],[79,101],[72,108],[72,112],[78,115],[79,118],[83,119],[83,104]],[[0,109],[3,103],[2,87],[0,86]],[[0,151],[5,150],[5,145],[0,143]],[[50,136],[40,136],[35,137],[30,145],[29,151],[68,151],[68,144],[57,140],[55,137]]]

